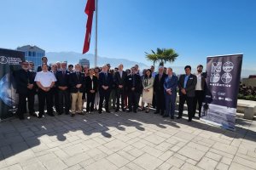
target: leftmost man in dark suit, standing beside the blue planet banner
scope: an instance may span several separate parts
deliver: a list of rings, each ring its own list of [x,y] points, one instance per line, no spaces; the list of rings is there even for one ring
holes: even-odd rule
[[[26,113],[26,98],[28,97],[28,91],[33,88],[32,74],[28,71],[27,61],[21,63],[21,69],[15,74],[15,80],[17,83],[17,94],[19,94],[17,115],[20,120],[23,120],[24,113]]]

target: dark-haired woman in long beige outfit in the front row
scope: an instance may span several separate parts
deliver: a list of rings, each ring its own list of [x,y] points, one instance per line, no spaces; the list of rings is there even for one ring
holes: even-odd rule
[[[148,69],[146,71],[145,76],[143,77],[143,106],[145,103],[148,104],[146,113],[149,112],[149,107],[152,104],[153,99],[153,85],[154,85],[154,78],[152,77],[151,70]]]

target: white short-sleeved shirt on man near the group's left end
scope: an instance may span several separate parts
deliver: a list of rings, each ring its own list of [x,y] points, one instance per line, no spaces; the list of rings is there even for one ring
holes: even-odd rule
[[[55,75],[49,71],[40,71],[35,77],[35,82],[40,82],[44,88],[49,88],[51,83],[56,81]]]

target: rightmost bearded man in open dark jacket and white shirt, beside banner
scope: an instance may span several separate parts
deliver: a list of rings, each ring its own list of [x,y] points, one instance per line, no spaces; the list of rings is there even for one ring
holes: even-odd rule
[[[195,116],[196,106],[198,104],[198,118],[201,117],[201,105],[203,102],[203,99],[205,97],[205,85],[206,85],[206,78],[207,75],[202,72],[203,66],[198,65],[197,66],[197,73],[195,76],[197,77],[197,83],[195,86],[195,102],[194,102],[194,113],[193,117]]]

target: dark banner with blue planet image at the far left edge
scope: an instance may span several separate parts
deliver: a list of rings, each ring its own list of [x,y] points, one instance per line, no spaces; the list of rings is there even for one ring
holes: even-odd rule
[[[17,110],[15,71],[24,60],[24,52],[0,48],[0,120],[14,116]]]

